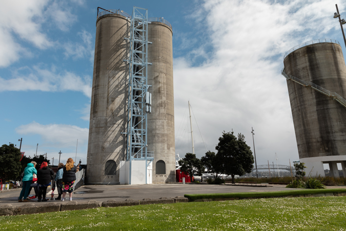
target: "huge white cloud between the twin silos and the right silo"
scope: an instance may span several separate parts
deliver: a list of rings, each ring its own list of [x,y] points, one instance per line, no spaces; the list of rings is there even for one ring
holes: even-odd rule
[[[275,152],[279,164],[280,159],[281,164],[298,159],[287,84],[280,74],[282,58],[293,46],[324,38],[337,28],[334,11],[327,0],[205,1],[191,18],[207,37],[186,56],[174,59],[176,136],[178,122],[187,120],[182,117],[190,100],[209,149],[214,150],[223,130],[232,128],[245,134],[253,149],[253,126],[257,164],[273,161]],[[208,55],[205,40],[213,47]],[[196,65],[191,54],[206,61]],[[176,146],[180,156],[191,151],[189,136]],[[201,157],[206,150],[196,125],[194,138]]]

